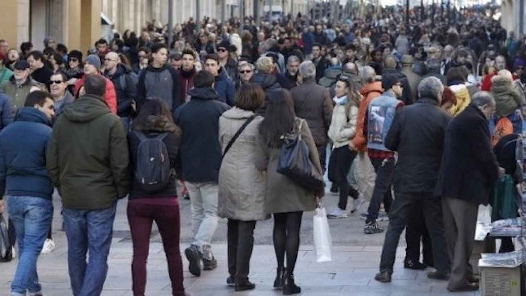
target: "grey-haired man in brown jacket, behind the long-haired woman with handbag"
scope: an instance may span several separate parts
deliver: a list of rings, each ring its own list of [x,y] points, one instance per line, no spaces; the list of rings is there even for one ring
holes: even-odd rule
[[[327,131],[332,118],[332,100],[329,90],[316,84],[316,66],[310,60],[300,64],[298,78],[301,84],[290,90],[296,116],[307,120],[325,171],[325,148],[329,140]]]

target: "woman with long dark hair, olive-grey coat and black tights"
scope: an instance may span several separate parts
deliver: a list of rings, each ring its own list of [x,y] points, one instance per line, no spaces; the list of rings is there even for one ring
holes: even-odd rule
[[[288,90],[275,91],[267,102],[265,119],[259,125],[256,166],[267,171],[265,211],[274,215],[273,239],[278,263],[274,288],[283,289],[284,295],[301,292],[293,275],[298,257],[301,217],[304,211],[314,210],[317,198],[323,196],[323,188],[318,192],[310,191],[276,172],[283,136],[299,132],[309,148],[310,161],[321,175],[318,150],[307,121],[296,117]]]

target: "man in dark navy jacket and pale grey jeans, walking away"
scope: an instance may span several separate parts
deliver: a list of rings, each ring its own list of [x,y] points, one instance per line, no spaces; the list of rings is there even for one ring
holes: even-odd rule
[[[194,241],[185,250],[190,273],[198,277],[204,270],[217,267],[210,242],[217,227],[217,199],[221,146],[219,117],[230,107],[219,100],[214,89],[214,76],[203,70],[194,77],[191,99],[175,112],[181,137],[182,177],[190,193]]]

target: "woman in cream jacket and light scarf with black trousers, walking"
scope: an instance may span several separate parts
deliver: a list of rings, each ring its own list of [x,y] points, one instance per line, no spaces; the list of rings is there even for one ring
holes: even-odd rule
[[[332,119],[327,132],[334,150],[329,160],[329,180],[338,184],[340,200],[338,207],[327,214],[328,218],[347,218],[347,200],[349,199],[349,182],[347,175],[357,150],[349,149],[349,141],[356,135],[358,107],[362,96],[356,90],[356,84],[350,77],[340,76],[336,82],[336,105],[332,111]]]

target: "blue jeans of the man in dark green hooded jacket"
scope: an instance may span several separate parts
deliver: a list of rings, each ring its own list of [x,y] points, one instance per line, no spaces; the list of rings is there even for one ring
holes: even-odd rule
[[[73,295],[100,295],[108,273],[108,253],[112,244],[113,221],[117,202],[100,210],[64,207],[69,280]],[[89,262],[86,253],[89,250]]]

